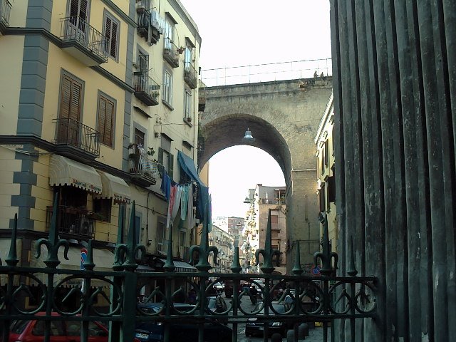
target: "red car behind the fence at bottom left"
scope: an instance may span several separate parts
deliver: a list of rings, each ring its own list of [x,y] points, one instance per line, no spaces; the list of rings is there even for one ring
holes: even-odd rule
[[[38,315],[43,315],[40,313]],[[58,316],[53,313],[52,316]],[[81,321],[51,321],[51,342],[81,341]],[[11,323],[9,342],[44,341],[45,321],[17,320]],[[108,329],[100,322],[88,323],[88,341],[108,342]],[[135,340],[138,342],[138,340]]]

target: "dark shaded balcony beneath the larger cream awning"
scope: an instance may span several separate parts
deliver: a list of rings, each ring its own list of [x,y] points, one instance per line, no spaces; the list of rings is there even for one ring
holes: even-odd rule
[[[86,209],[57,207],[57,229],[63,239],[93,239],[97,214]],[[46,207],[46,231],[51,227],[53,207]]]

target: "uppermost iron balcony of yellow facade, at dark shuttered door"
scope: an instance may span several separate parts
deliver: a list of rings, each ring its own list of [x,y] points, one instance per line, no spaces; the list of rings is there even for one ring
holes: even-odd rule
[[[86,66],[108,61],[108,39],[79,16],[61,19],[62,49]]]

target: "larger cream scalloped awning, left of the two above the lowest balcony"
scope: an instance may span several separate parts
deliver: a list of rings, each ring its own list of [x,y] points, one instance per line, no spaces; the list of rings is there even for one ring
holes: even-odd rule
[[[69,185],[95,194],[102,190],[101,177],[93,167],[61,155],[51,155],[49,185]]]

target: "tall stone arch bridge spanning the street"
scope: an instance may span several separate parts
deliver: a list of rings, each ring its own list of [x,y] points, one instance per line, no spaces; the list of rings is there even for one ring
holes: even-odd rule
[[[200,89],[206,106],[199,118],[199,167],[217,152],[242,145],[249,128],[255,138],[249,145],[268,152],[284,172],[291,247],[286,255],[287,273],[293,267],[297,242],[301,261],[306,263],[313,262],[312,254],[318,250],[314,138],[331,89],[330,76]]]

